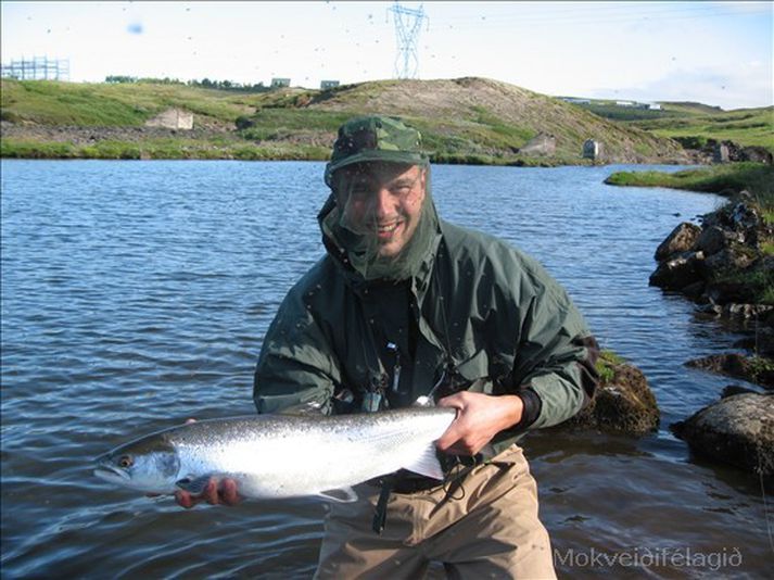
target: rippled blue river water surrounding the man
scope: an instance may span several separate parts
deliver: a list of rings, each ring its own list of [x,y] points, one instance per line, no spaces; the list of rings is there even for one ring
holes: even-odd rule
[[[764,577],[774,499],[668,428],[728,382],[683,363],[739,337],[647,283],[663,237],[720,200],[605,186],[619,168],[433,169],[441,215],[543,262],[661,407],[660,430],[639,440],[524,441],[558,570]],[[187,417],[254,412],[264,333],[322,251],[321,174],[301,162],[2,162],[3,578],[312,575],[319,502],[183,510],[111,488],[91,461]]]

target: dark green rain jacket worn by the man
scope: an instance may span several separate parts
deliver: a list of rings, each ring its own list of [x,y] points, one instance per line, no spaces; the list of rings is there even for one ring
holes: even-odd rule
[[[264,339],[258,413],[358,412],[375,388],[393,407],[437,383],[439,396],[520,393],[524,418],[495,438],[498,452],[593,395],[598,350],[583,317],[537,262],[505,242],[439,222],[417,276],[367,282],[323,241],[327,255],[288,292]]]

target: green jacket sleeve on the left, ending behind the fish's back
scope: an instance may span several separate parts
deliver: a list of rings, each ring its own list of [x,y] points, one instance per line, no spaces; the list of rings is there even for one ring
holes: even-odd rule
[[[331,412],[340,368],[304,295],[301,285],[291,289],[264,338],[253,382],[259,414]]]

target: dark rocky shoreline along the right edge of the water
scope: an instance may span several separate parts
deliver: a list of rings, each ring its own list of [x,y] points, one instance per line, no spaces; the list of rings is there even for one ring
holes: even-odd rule
[[[656,251],[650,283],[697,303],[703,315],[749,335],[745,354],[715,354],[687,366],[774,389],[774,227],[749,193],[701,226],[680,224]],[[774,476],[774,391],[729,386],[720,401],[671,426],[693,452],[761,477]]]

